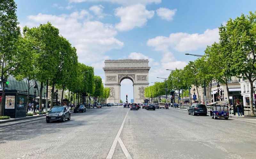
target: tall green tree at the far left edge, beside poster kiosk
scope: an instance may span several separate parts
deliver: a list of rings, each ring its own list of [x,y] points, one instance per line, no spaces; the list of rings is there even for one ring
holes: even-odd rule
[[[2,100],[5,98],[5,81],[21,64],[17,52],[17,41],[20,38],[20,27],[16,15],[17,6],[14,0],[0,2],[0,73],[2,81]],[[0,105],[0,115],[3,115],[4,102]]]

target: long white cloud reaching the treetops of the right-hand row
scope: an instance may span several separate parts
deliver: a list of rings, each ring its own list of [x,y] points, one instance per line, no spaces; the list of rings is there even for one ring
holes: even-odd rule
[[[169,37],[156,36],[148,40],[148,46],[155,47],[156,51],[169,51],[174,49],[179,52],[195,51],[206,48],[219,41],[219,29],[207,29],[203,34],[172,33]]]

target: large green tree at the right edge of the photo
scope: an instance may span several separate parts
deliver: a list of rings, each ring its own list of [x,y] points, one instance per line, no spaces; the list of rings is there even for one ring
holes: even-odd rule
[[[256,80],[256,12],[242,14],[236,19],[228,20],[226,26],[220,27],[220,39],[225,42],[227,65],[236,76],[248,79],[251,87],[250,108],[253,111],[253,82]]]

